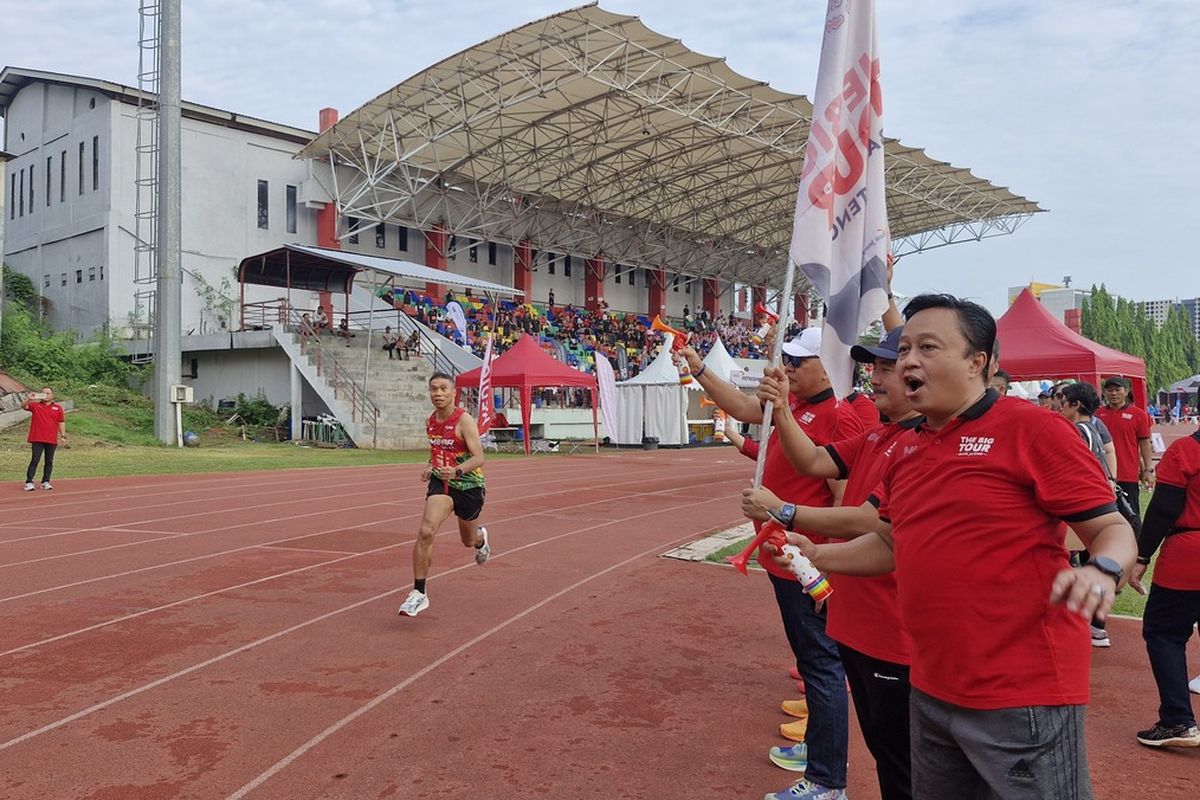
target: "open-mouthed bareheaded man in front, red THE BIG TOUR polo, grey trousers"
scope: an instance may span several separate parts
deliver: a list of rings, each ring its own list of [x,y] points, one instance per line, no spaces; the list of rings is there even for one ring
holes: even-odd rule
[[[1087,620],[1112,607],[1133,531],[1069,422],[988,387],[986,309],[922,295],[905,315],[898,363],[926,420],[895,443],[876,535],[788,536],[818,569],[895,567],[913,644],[914,796],[1091,798]],[[1061,522],[1092,553],[1086,566],[1069,566]],[[822,558],[834,548],[853,561]]]

